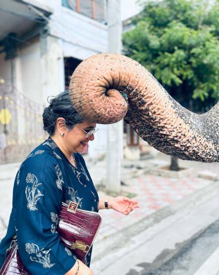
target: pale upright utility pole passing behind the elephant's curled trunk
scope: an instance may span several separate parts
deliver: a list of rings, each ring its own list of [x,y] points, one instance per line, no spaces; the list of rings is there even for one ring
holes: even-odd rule
[[[120,0],[108,0],[108,52],[121,53],[122,21]],[[123,155],[123,121],[108,125],[106,189],[120,192]]]

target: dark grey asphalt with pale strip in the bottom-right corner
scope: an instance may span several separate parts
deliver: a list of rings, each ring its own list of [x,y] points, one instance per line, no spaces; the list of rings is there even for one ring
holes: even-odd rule
[[[219,220],[200,232],[160,268],[148,272],[130,272],[129,275],[131,274],[219,275]]]

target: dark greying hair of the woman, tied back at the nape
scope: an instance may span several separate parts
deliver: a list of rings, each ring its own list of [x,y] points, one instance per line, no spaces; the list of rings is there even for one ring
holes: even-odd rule
[[[48,100],[48,99],[47,99]],[[84,119],[76,112],[70,99],[69,91],[65,91],[53,97],[49,106],[43,112],[43,129],[50,136],[55,134],[56,121],[58,118],[66,119],[66,127],[72,130],[77,123],[84,122]]]

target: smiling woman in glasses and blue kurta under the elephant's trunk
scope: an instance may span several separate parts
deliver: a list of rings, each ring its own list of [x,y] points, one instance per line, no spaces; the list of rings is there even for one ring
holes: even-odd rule
[[[96,124],[78,115],[69,92],[50,101],[43,123],[49,138],[27,156],[15,178],[8,230],[0,243],[0,268],[16,235],[21,260],[32,275],[92,275],[92,248],[83,264],[60,243],[56,226],[62,202],[74,201],[96,212],[108,206],[125,215],[139,206],[125,197],[99,198],[80,155],[94,139]]]

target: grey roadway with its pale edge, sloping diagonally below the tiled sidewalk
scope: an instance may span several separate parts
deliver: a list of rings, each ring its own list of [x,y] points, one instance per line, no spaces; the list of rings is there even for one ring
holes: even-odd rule
[[[94,274],[219,275],[218,196],[212,182],[96,244]]]

